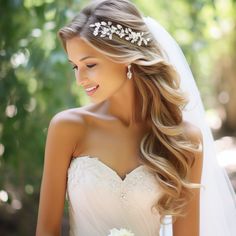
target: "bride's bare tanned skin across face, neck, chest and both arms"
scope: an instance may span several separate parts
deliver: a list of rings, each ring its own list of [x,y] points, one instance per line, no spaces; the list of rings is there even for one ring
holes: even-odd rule
[[[139,144],[150,129],[149,124],[135,123],[132,119],[135,78],[127,79],[127,64],[114,63],[79,37],[68,40],[66,50],[77,85],[99,85],[99,88],[90,96],[90,105],[64,110],[50,121],[36,236],[61,235],[67,169],[71,158],[88,154],[99,157],[124,179],[127,173],[140,165]],[[93,58],[81,60],[86,56]],[[94,64],[96,66],[92,67]],[[189,138],[201,142],[199,129],[184,124]],[[200,182],[202,156],[197,158],[191,178]],[[199,236],[198,209],[199,194],[196,192],[189,205],[189,217],[173,225],[174,236]]]

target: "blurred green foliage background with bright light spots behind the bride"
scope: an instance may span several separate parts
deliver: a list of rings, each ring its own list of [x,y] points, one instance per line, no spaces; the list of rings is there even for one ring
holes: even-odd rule
[[[134,0],[180,44],[236,186],[236,0]],[[0,235],[34,235],[49,121],[89,102],[57,38],[86,0],[0,0]],[[62,232],[68,235],[67,205]]]

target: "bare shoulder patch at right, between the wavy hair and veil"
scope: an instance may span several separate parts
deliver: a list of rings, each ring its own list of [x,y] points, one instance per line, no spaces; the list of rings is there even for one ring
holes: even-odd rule
[[[203,136],[199,127],[188,121],[183,121],[183,127],[185,130],[185,135],[191,140],[191,142],[200,145],[203,144]]]

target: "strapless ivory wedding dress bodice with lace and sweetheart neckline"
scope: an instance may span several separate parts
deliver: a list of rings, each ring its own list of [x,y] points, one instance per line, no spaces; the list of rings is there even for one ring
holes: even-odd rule
[[[161,191],[145,165],[122,180],[98,157],[81,156],[72,159],[67,174],[70,236],[107,236],[112,228],[159,235],[160,216],[151,206]]]

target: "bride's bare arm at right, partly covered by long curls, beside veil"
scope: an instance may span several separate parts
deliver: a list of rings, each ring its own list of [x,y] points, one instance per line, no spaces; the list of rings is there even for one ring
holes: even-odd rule
[[[201,142],[203,137],[200,129],[185,122],[186,134],[194,143]],[[201,182],[203,152],[195,155],[196,161],[191,169],[190,181],[194,183]],[[192,189],[194,197],[187,206],[188,214],[180,217],[173,224],[173,236],[199,236],[200,235],[200,189]]]

